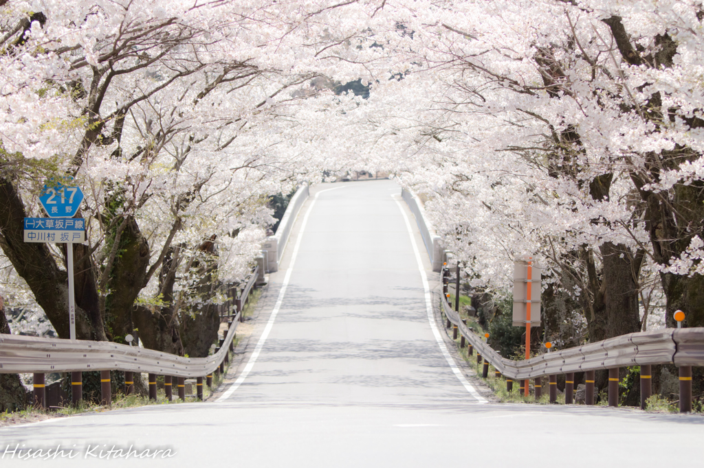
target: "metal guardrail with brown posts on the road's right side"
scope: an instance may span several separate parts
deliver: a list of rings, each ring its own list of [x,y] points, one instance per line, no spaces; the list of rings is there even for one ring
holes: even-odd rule
[[[641,407],[644,408],[645,399],[650,396],[650,365],[674,364],[680,368],[680,410],[683,412],[691,411],[691,366],[704,366],[704,328],[702,327],[666,328],[624,334],[601,342],[544,353],[527,360],[510,360],[501,356],[489,344],[482,341],[482,337],[472,332],[463,323],[459,313],[451,308],[445,297],[440,302],[442,312],[448,322],[457,327],[458,332],[472,346],[472,349],[477,350],[480,355],[477,356],[477,363],[480,363],[482,358],[484,359],[483,377],[486,377],[489,364],[506,377],[507,386],[510,386],[513,380],[550,377],[551,401],[554,401],[553,394],[555,392],[553,390],[556,390],[556,375],[567,375],[567,383],[573,383],[570,382],[570,380],[573,381],[570,375],[574,377],[574,372],[586,372],[587,375],[591,375],[591,379],[590,377],[586,379],[588,386],[586,393],[589,398],[590,382],[593,391],[593,372],[608,370],[610,372],[609,404],[617,405],[618,368],[640,365],[642,366]],[[643,382],[644,380],[647,382]],[[523,383],[523,385],[526,384],[527,382]],[[688,385],[689,389],[687,389]],[[541,384],[538,384],[537,388],[540,387]],[[553,387],[555,388],[553,389]],[[646,394],[645,398],[643,398],[643,394]],[[539,395],[537,391],[536,395]],[[688,395],[689,401],[687,401]],[[566,388],[565,398],[572,399],[571,388],[569,394]]]

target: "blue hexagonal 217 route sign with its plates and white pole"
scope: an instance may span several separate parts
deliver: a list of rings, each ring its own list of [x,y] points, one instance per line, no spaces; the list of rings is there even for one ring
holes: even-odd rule
[[[25,242],[65,242],[68,273],[69,337],[76,339],[76,300],[73,278],[73,244],[85,242],[85,220],[74,218],[83,192],[77,186],[45,185],[39,197],[49,218],[25,218]]]

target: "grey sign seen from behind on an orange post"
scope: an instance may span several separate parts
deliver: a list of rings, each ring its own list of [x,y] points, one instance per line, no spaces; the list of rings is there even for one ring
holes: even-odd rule
[[[530,328],[540,326],[541,269],[534,265],[533,257],[526,256],[513,262],[513,326],[526,327],[526,359],[530,359]],[[528,396],[528,385],[524,386]]]

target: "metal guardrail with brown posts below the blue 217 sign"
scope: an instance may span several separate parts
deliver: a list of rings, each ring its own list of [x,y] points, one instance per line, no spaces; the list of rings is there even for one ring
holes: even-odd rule
[[[225,372],[234,351],[237,325],[241,321],[241,306],[253,290],[258,275],[255,268],[237,299],[237,312],[227,321],[227,333],[211,356],[186,358],[139,346],[82,339],[57,339],[0,334],[0,373],[34,374],[34,404],[46,407],[45,374],[70,372],[72,402],[82,399],[82,372],[101,371],[101,401],[111,402],[111,371],[125,372],[125,395],[134,391],[134,372],[149,375],[149,398],[156,400],[156,376],[164,376],[166,398],[172,400],[172,386],[177,396],[185,400],[185,379],[196,379],[196,396],[203,399],[203,377],[211,386],[213,374]]]

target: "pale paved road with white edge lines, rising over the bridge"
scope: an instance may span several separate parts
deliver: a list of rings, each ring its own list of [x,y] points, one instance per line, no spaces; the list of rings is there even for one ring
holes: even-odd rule
[[[389,181],[317,188],[220,401],[0,429],[2,466],[118,466],[125,460],[94,455],[131,444],[170,450],[135,460],[156,466],[702,463],[700,416],[484,403],[429,316],[432,273],[399,192]],[[3,453],[59,443],[76,457]]]

